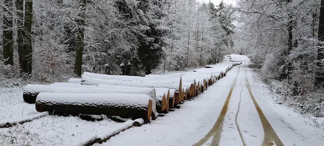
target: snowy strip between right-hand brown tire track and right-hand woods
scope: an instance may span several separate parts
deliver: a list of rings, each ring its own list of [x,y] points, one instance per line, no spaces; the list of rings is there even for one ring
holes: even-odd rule
[[[248,69],[252,70],[251,68],[247,68],[247,70]],[[252,72],[253,71],[250,71],[250,73]],[[323,122],[323,118],[301,114],[297,109],[288,107],[285,104],[279,104],[279,96],[269,90],[269,86],[262,82],[257,73],[254,72],[249,80],[253,82],[253,87],[251,86],[251,89],[253,94],[256,94],[255,97],[257,102],[263,109],[267,109],[264,111],[264,114],[267,116],[281,140],[287,142],[294,138],[293,135],[285,134],[282,128],[285,127],[290,129],[295,137],[299,137],[300,140],[311,143],[311,145],[319,146],[324,144],[324,127],[322,124],[318,123]],[[258,94],[256,91],[260,93]],[[280,119],[281,122],[278,123],[275,119]],[[298,145],[298,143],[295,144]]]

